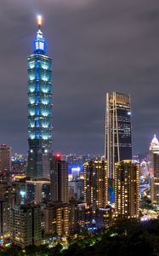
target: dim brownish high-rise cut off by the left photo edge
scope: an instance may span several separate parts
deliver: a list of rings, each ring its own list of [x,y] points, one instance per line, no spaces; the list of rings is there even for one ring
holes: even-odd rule
[[[0,145],[0,172],[11,171],[11,148],[8,145]]]

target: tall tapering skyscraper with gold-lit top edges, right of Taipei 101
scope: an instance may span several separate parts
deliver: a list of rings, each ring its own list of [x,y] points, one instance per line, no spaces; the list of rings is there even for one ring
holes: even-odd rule
[[[114,178],[115,163],[132,159],[130,96],[118,92],[106,94],[105,160],[108,177]]]

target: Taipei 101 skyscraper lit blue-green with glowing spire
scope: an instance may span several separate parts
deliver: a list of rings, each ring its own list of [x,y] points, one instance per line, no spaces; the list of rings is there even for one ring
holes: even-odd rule
[[[28,166],[27,176],[49,177],[49,156],[52,146],[52,60],[46,51],[38,16],[34,52],[28,57]]]

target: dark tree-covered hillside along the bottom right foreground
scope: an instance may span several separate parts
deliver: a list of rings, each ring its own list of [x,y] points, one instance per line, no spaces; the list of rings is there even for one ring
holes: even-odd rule
[[[0,255],[21,256],[157,256],[159,255],[159,219],[139,223],[120,219],[110,230],[70,236],[70,246],[1,248]]]

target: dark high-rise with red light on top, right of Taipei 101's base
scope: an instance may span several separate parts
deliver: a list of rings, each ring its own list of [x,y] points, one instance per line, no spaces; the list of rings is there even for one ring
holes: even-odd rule
[[[65,160],[61,160],[60,157],[60,154],[56,154],[51,160],[51,200],[68,203],[68,163]]]

